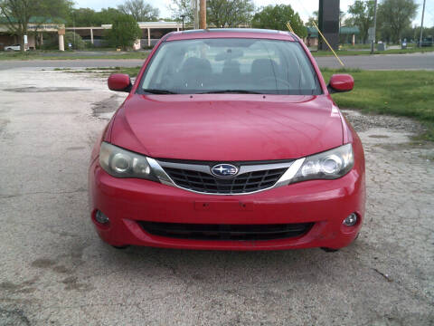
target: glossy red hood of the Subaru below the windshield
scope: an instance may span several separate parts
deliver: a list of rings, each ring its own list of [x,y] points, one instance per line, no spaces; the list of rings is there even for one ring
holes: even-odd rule
[[[110,140],[153,158],[273,160],[340,146],[343,127],[326,95],[134,94]]]

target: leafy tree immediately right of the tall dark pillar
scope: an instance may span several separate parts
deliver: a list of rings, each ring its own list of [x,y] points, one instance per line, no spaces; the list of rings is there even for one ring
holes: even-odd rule
[[[345,24],[359,27],[363,43],[367,42],[368,30],[370,27],[373,27],[374,9],[374,0],[355,0],[354,5],[350,5],[348,8],[348,14],[351,14],[351,17],[346,19]]]

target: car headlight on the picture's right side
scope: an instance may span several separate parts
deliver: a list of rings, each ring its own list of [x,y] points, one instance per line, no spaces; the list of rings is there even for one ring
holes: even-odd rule
[[[343,177],[354,167],[353,146],[346,144],[337,149],[309,156],[298,168],[290,183],[312,179]]]

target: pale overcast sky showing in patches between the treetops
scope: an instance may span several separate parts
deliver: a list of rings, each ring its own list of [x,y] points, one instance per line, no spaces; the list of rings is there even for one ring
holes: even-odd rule
[[[160,9],[161,17],[170,17],[170,11],[167,5],[170,4],[170,0],[145,0],[147,3]],[[380,0],[381,1],[381,0]],[[422,15],[422,4],[423,0],[415,0],[417,4],[420,4],[418,15],[413,21],[413,24],[420,25],[420,18]],[[76,7],[88,7],[95,10],[107,7],[116,7],[117,5],[123,4],[124,0],[75,0]],[[298,14],[300,14],[303,21],[307,21],[307,17],[312,14],[315,10],[318,10],[318,0],[253,0],[256,6],[260,7],[263,5],[276,5],[285,4],[291,5]],[[341,0],[341,10],[346,12],[348,5],[352,5],[354,0]],[[425,7],[425,21],[424,26],[434,25],[434,1],[427,0],[427,5]]]

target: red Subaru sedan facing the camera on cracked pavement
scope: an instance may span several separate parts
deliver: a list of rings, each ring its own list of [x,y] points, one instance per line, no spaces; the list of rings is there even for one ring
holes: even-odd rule
[[[92,151],[90,216],[109,245],[277,250],[351,244],[363,223],[361,141],[295,34],[166,34]]]

